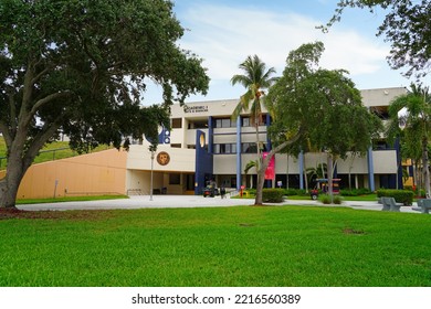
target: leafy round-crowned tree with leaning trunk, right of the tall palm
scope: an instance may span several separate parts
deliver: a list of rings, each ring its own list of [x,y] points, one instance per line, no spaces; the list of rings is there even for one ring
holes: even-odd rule
[[[320,42],[292,51],[283,76],[270,88],[266,99],[275,117],[269,134],[274,148],[263,160],[260,174],[271,157],[287,146],[291,153],[298,153],[312,143],[324,149],[329,159],[346,158],[349,151],[365,152],[378,135],[379,118],[364,107],[346,72],[318,66],[323,52]],[[328,164],[329,178],[332,173]],[[255,204],[262,203],[262,188],[263,181],[257,184]]]

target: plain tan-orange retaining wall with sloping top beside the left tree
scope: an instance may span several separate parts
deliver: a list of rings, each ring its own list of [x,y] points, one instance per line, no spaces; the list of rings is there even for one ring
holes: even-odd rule
[[[18,199],[126,194],[126,151],[109,149],[33,164],[21,182]]]

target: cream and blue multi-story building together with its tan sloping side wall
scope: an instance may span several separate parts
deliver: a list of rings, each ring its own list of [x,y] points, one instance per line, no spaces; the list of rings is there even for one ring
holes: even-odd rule
[[[397,87],[362,90],[361,95],[370,113],[385,120],[390,102],[406,92]],[[236,104],[238,99],[227,99],[188,103],[183,107],[174,105],[171,130],[160,130],[160,145],[154,153],[148,150],[149,142],[144,141],[132,145],[128,152],[112,149],[32,166],[21,183],[19,198],[44,198],[53,193],[57,196],[101,192],[149,194],[151,188],[155,193],[200,194],[209,180],[233,189],[255,185],[255,169],[248,174],[244,169],[256,160],[256,132],[246,113],[236,120],[231,119]],[[271,147],[266,136],[269,126],[271,117],[264,114],[259,140],[266,149]],[[364,157],[337,160],[340,187],[402,188],[398,148],[381,139]],[[304,171],[325,162],[325,153],[302,153],[297,158],[278,153],[275,180],[266,185],[305,189]]]

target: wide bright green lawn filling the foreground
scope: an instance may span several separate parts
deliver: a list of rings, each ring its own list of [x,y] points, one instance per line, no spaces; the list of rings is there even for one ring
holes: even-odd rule
[[[0,220],[0,286],[431,286],[429,215],[238,206],[38,216]]]

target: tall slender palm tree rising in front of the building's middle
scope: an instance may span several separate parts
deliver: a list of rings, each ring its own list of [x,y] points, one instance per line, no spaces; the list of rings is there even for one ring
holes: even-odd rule
[[[261,162],[261,145],[259,141],[259,126],[262,124],[262,106],[264,104],[264,89],[267,89],[277,77],[271,77],[275,73],[274,67],[266,70],[266,65],[257,55],[248,56],[239,66],[244,74],[233,75],[232,85],[241,84],[246,88],[245,94],[240,97],[232,119],[236,119],[242,111],[250,110],[250,121],[256,130],[257,160]],[[259,182],[259,181],[257,181]]]

